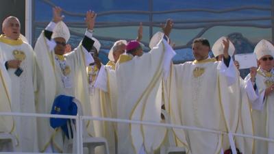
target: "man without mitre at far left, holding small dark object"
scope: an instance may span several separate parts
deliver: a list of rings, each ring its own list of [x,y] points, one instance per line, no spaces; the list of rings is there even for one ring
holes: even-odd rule
[[[12,83],[12,112],[34,113],[35,56],[32,47],[19,37],[20,28],[20,21],[15,16],[9,16],[3,21],[0,60],[4,62]],[[15,129],[11,133],[18,137],[15,151],[36,151],[36,118],[16,116],[14,120]]]

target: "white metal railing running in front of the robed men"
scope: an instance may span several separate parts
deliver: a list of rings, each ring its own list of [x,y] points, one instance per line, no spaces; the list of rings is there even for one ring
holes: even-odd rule
[[[271,138],[262,138],[260,136],[251,136],[248,134],[242,133],[231,133],[225,131],[216,131],[212,129],[204,129],[201,127],[189,127],[183,125],[173,125],[169,123],[153,123],[148,121],[141,121],[141,120],[127,120],[127,119],[119,119],[119,118],[101,118],[95,116],[66,116],[66,115],[58,115],[58,114],[33,114],[33,113],[15,113],[15,112],[0,112],[0,116],[32,116],[32,117],[42,117],[42,118],[70,118],[75,119],[76,121],[76,140],[77,140],[77,154],[83,154],[83,136],[82,136],[82,123],[84,120],[99,120],[99,121],[109,121],[114,123],[132,123],[132,124],[141,124],[141,125],[152,125],[158,127],[167,127],[167,128],[176,128],[176,129],[187,129],[192,131],[203,131],[206,133],[215,133],[219,135],[228,136],[230,145],[232,147],[233,153],[236,153],[235,144],[233,142],[233,137],[238,136],[242,138],[253,138],[256,140],[263,140],[266,142],[274,142]],[[27,154],[21,152],[0,152],[5,154]],[[41,154],[41,153],[32,153],[32,154]],[[51,154],[51,153],[43,153],[43,154]]]

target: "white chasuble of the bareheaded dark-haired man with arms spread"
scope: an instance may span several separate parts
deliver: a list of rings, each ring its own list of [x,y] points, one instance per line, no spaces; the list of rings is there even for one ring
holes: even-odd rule
[[[220,68],[221,62],[214,59],[172,66],[168,108],[173,124],[236,132],[241,101],[239,81],[228,86]],[[173,130],[188,153],[219,154],[229,148],[228,138],[223,135]]]

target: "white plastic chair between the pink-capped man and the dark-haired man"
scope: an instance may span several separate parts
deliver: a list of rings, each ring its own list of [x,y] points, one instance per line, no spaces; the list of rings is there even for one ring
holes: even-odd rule
[[[162,114],[164,115],[164,119],[166,123],[170,123],[171,119],[169,117],[169,114],[166,112],[166,110],[162,110]],[[169,154],[169,153],[186,153],[186,149],[182,147],[178,147],[175,144],[175,136],[173,134],[172,128],[167,129],[167,136],[169,138],[168,145],[162,145],[160,149],[160,154]]]

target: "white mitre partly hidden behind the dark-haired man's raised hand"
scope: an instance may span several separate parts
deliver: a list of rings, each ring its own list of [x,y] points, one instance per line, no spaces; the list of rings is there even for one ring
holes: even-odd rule
[[[223,44],[223,40],[226,40],[224,36],[216,40],[212,46],[212,52],[214,54],[214,57],[217,57],[218,55],[223,54],[223,49],[225,48],[225,45]],[[229,48],[228,48],[228,54],[232,56],[234,54],[235,47],[234,44],[229,40]]]

